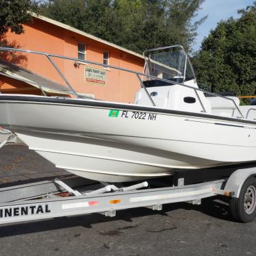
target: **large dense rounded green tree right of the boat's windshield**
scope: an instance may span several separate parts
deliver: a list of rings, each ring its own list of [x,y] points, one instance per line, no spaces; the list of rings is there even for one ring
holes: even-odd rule
[[[256,90],[256,2],[238,19],[220,21],[203,40],[193,62],[197,78],[214,92],[254,95]]]

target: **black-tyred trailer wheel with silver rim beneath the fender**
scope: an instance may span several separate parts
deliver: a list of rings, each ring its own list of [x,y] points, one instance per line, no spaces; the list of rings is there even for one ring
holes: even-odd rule
[[[244,181],[239,198],[231,197],[230,210],[233,218],[240,222],[251,222],[256,216],[256,179]]]

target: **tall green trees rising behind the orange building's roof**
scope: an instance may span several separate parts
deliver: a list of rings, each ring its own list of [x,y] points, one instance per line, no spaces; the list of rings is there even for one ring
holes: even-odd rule
[[[205,0],[51,0],[42,14],[89,34],[142,53],[169,44],[190,49],[197,27],[192,23]]]

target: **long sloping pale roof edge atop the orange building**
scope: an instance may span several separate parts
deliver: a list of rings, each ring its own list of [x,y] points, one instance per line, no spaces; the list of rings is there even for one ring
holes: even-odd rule
[[[90,38],[92,40],[96,40],[97,42],[101,42],[101,43],[106,44],[110,47],[114,47],[115,49],[118,49],[120,51],[124,51],[125,53],[129,53],[129,54],[134,55],[136,57],[140,57],[144,60],[143,55],[141,55],[139,53],[136,53],[135,51],[130,51],[128,49],[125,49],[123,47],[118,46],[117,44],[113,44],[112,42],[107,42],[106,40],[103,40],[101,38],[97,38],[97,36],[92,36],[91,34],[88,34],[84,31],[79,30],[79,29],[75,29],[74,27],[71,27],[71,26],[66,25],[64,23],[60,23],[59,21],[55,21],[51,18],[47,18],[45,16],[41,16],[41,15],[37,15],[37,14],[33,14],[33,16],[35,18],[38,18],[38,19],[42,20],[42,21],[46,21],[47,23],[51,23],[53,25],[56,25],[57,27],[62,27],[62,28],[67,29],[69,31],[73,31],[73,32],[75,32],[75,33],[77,33],[81,36],[86,36],[87,38]]]

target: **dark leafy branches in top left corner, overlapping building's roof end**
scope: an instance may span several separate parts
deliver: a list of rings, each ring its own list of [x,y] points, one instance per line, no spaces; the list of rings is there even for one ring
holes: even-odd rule
[[[0,36],[8,29],[16,34],[23,33],[23,24],[31,21],[31,12],[37,12],[33,0],[0,0]]]

